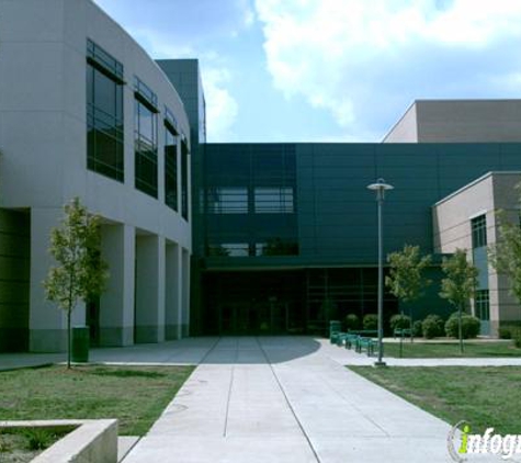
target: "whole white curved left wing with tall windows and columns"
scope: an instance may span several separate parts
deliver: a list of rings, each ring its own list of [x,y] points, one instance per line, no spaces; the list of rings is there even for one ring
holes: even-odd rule
[[[0,349],[61,351],[49,232],[78,196],[103,219],[107,291],[78,306],[100,346],[186,336],[191,133],[172,83],[89,0],[0,1]]]

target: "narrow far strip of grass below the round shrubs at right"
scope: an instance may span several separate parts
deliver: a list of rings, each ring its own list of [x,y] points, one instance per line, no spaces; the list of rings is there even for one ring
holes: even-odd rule
[[[460,353],[460,345],[448,342],[410,342],[404,340],[404,358],[435,359],[452,357],[521,357],[521,349],[514,347],[513,341],[464,341],[464,353]],[[399,342],[386,342],[384,346],[385,357],[399,357]]]

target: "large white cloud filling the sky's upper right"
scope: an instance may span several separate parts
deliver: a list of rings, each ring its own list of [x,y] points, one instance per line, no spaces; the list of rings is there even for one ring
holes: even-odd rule
[[[256,11],[275,88],[351,134],[417,98],[489,97],[521,72],[520,0],[256,0]]]

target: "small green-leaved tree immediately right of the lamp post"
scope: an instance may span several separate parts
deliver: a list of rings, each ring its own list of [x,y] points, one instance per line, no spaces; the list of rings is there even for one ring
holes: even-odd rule
[[[431,261],[431,256],[421,256],[419,246],[405,245],[401,251],[387,256],[389,274],[385,278],[386,286],[394,296],[405,303],[419,300],[424,293],[423,290],[431,284],[423,275]],[[412,328],[412,309],[409,317]]]

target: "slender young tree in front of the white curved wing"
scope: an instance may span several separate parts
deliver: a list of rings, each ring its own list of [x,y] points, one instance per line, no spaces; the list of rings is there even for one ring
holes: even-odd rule
[[[44,281],[47,300],[67,313],[67,368],[70,369],[70,318],[78,300],[103,292],[107,264],[101,258],[100,217],[90,215],[78,197],[64,206],[65,217],[50,233],[49,252],[56,266]]]

